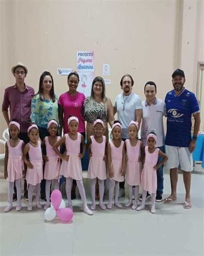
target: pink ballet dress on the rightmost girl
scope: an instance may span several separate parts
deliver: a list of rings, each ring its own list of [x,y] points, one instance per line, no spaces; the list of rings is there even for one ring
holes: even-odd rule
[[[148,146],[145,147],[145,165],[142,170],[141,186],[149,194],[157,192],[157,170],[154,170],[153,167],[157,164],[158,153],[158,148],[156,148],[154,153],[149,153]]]

